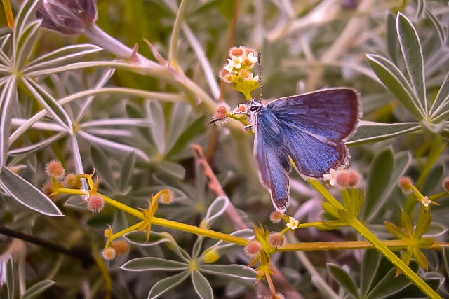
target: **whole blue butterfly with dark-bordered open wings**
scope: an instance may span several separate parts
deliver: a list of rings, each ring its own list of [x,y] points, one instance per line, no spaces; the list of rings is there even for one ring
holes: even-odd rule
[[[252,100],[243,113],[250,116],[255,133],[260,181],[271,193],[274,208],[285,212],[290,202],[290,158],[302,176],[315,179],[346,166],[349,151],[344,141],[356,130],[360,102],[356,90],[328,88],[266,105]]]

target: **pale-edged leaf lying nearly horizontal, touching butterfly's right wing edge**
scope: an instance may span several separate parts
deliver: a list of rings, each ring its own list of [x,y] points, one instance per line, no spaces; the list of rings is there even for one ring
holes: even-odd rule
[[[369,144],[420,130],[420,123],[375,123],[361,121],[357,131],[345,142],[347,145]]]

